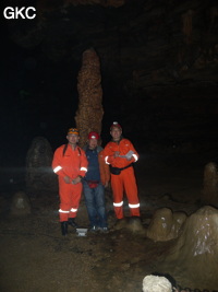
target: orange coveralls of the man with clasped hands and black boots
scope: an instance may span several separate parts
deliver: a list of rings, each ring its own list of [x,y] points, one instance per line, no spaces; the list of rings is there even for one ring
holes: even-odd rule
[[[66,184],[63,177],[66,175],[71,179],[74,179],[78,175],[84,177],[88,165],[84,150],[80,147],[73,150],[68,145],[63,154],[64,147],[63,144],[56,150],[52,161],[53,172],[58,175],[59,179],[60,222],[76,217],[82,194],[82,183],[76,185]]]

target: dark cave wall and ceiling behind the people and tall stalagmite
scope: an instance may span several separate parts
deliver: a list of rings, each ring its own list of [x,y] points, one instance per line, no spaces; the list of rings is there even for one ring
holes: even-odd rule
[[[90,47],[101,63],[102,144],[118,120],[140,153],[216,153],[217,1],[4,1],[2,10],[8,5],[36,7],[37,17],[2,17],[2,167],[24,166],[36,136],[53,150],[65,142]]]

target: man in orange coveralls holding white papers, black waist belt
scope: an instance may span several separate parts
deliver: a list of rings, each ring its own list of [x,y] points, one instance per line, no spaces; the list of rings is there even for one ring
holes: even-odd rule
[[[117,219],[123,215],[123,191],[125,190],[131,217],[140,217],[140,201],[133,163],[138,160],[130,140],[122,137],[121,126],[114,121],[110,127],[112,140],[104,150],[105,161],[110,164],[111,187],[113,192],[113,208]]]

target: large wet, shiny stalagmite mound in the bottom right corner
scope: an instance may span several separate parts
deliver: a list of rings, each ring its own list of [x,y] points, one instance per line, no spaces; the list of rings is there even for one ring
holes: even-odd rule
[[[181,287],[218,288],[218,210],[210,206],[187,217],[179,237],[158,264],[158,272],[171,275]]]

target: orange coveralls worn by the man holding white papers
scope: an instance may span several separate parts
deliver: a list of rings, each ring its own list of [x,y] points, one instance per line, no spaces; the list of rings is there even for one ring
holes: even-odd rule
[[[130,161],[124,157],[114,157],[113,155],[116,151],[119,151],[120,155],[125,155],[130,150],[134,152]],[[111,166],[119,168],[125,167],[138,159],[138,154],[131,141],[124,138],[119,142],[109,142],[104,149],[104,155],[107,164],[111,164]],[[123,218],[124,190],[128,197],[131,215],[140,217],[140,201],[133,166],[121,171],[119,175],[111,174],[111,187],[113,191],[113,208],[117,218]]]

